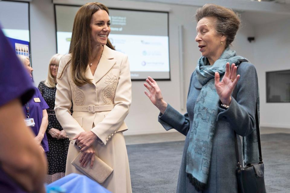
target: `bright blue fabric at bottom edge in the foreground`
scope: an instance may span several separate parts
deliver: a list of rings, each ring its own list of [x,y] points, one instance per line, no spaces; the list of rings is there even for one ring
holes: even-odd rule
[[[75,173],[69,174],[47,185],[47,192],[55,187],[64,189],[64,192],[66,193],[111,193],[106,188],[98,184],[98,182],[95,182],[87,176]]]

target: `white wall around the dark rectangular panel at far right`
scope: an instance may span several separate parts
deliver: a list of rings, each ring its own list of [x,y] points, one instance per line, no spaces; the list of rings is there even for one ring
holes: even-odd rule
[[[256,25],[254,31],[261,126],[290,128],[290,103],[266,103],[266,71],[290,69],[290,20]]]

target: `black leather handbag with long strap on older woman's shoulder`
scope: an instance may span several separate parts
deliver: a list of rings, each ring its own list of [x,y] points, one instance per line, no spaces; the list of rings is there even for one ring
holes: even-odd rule
[[[239,150],[237,144],[237,134],[235,134],[235,149],[237,158],[237,183],[239,193],[266,193],[264,181],[264,164],[261,153],[261,141],[259,131],[259,119],[256,105],[256,130],[259,145],[259,163],[248,163],[242,167],[239,162]]]

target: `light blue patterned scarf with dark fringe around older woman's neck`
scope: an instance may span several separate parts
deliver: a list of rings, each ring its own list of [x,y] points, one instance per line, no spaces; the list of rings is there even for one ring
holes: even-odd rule
[[[227,62],[239,64],[241,60],[246,59],[237,56],[235,51],[227,47],[213,65],[209,65],[208,59],[201,56],[195,68],[201,91],[194,107],[193,128],[190,132],[187,150],[186,174],[197,190],[203,190],[207,183],[217,122],[219,96],[214,86],[214,73],[218,72],[220,77],[223,77]]]

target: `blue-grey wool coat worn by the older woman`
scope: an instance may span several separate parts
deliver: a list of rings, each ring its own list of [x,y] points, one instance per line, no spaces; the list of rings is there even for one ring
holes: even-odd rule
[[[237,97],[232,101],[228,109],[221,108],[219,113],[213,147],[208,181],[203,193],[237,193],[236,178],[236,154],[234,146],[234,130],[238,136],[240,163],[243,163],[240,136],[247,136],[255,130],[256,102],[259,100],[258,78],[254,65],[242,62],[237,70],[240,80],[237,83]],[[195,71],[192,73],[187,98],[187,113],[184,115],[176,111],[168,104],[164,114],[159,114],[158,121],[166,130],[175,128],[186,136],[179,170],[177,193],[197,193],[195,187],[186,177],[187,149],[189,135],[192,129],[194,107],[201,89],[195,88],[198,82]]]

